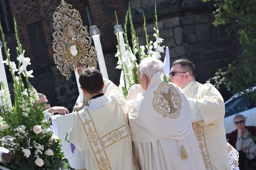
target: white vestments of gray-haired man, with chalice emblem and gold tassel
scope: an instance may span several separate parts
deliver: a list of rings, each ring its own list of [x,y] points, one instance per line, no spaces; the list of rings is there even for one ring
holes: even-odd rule
[[[130,88],[128,99],[136,97],[130,103],[133,109],[129,112],[129,125],[140,169],[205,169],[192,130],[189,103],[182,90],[163,82],[161,72],[152,77],[147,91],[136,94],[140,89],[137,87]]]

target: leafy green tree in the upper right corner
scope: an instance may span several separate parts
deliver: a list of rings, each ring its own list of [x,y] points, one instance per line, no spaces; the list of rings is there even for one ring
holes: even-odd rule
[[[244,48],[243,54],[229,64],[227,70],[219,69],[213,78],[215,86],[224,84],[233,94],[256,85],[256,5],[255,0],[203,0],[214,1],[216,11],[213,24],[226,25],[226,32],[237,34]],[[245,98],[256,102],[256,90],[245,92]]]

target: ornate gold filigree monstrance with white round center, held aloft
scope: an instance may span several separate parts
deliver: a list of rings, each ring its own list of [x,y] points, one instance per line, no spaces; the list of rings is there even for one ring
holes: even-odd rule
[[[61,74],[69,80],[73,66],[96,68],[97,52],[91,46],[91,37],[87,26],[83,26],[79,12],[62,0],[53,14],[53,20],[56,30],[53,33],[53,57]]]

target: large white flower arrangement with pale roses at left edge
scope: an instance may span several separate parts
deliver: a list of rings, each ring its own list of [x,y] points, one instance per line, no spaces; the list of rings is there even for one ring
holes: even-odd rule
[[[19,42],[17,26],[14,18],[15,36],[17,40],[17,60],[10,61],[10,53],[7,49],[4,33],[0,21],[0,30],[3,38],[4,51],[14,82],[14,106],[11,106],[10,93],[1,81],[0,90],[0,143],[10,150],[12,157],[1,166],[9,169],[73,169],[68,160],[64,158],[60,148],[60,139],[52,135],[50,129],[51,115],[45,115],[41,104],[37,104],[39,97],[37,90],[28,81],[33,77],[32,70],[27,71],[30,58],[25,57],[25,50]],[[23,76],[22,76],[23,74]],[[23,83],[25,79],[26,84]]]

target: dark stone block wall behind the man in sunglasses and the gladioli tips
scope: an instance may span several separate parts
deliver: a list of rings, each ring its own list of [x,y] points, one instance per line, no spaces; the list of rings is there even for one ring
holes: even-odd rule
[[[219,69],[226,69],[239,54],[235,35],[225,33],[225,27],[214,27],[211,3],[201,0],[157,1],[158,28],[162,45],[169,47],[170,64],[178,59],[188,59],[195,65],[196,80],[205,83]],[[134,28],[139,45],[145,45],[145,32],[141,12],[146,16],[146,28],[153,42],[155,31],[154,3],[152,0],[130,1],[135,20]],[[151,17],[149,16],[151,15]],[[165,53],[161,55],[164,60]],[[220,90],[225,99],[226,89]]]

